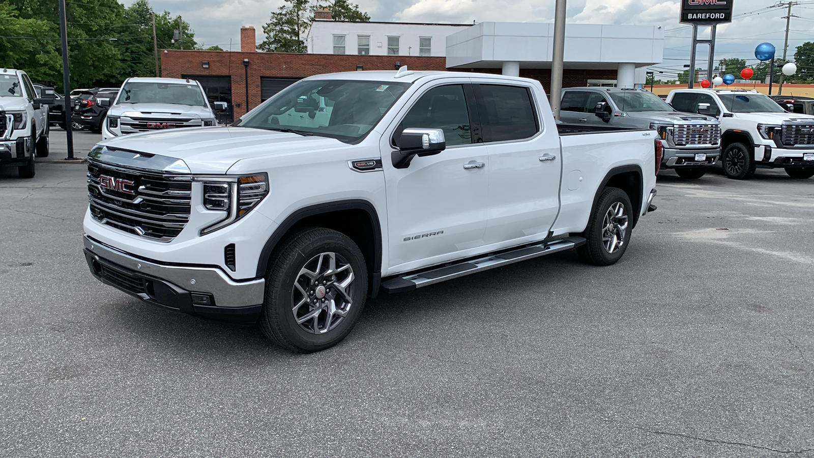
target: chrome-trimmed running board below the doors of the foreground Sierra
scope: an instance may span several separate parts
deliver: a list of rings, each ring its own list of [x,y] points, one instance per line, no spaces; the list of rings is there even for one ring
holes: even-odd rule
[[[387,291],[387,293],[402,293],[442,281],[453,280],[464,275],[488,271],[495,267],[507,266],[514,264],[514,262],[539,258],[540,256],[551,253],[558,253],[559,251],[576,248],[583,244],[585,244],[585,239],[582,237],[566,237],[549,243],[526,246],[521,249],[511,249],[509,251],[491,254],[484,258],[477,258],[450,266],[437,267],[418,274],[405,274],[384,280],[382,282],[382,288]]]

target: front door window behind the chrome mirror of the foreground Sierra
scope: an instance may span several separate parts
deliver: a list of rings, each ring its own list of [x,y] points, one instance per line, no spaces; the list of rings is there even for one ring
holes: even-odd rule
[[[462,85],[438,86],[422,95],[396,127],[393,141],[399,144],[401,131],[409,127],[443,129],[447,145],[472,143],[469,109]]]

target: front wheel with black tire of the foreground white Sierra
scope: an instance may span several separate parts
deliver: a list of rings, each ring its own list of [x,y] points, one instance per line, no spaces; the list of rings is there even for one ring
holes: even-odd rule
[[[338,231],[305,227],[272,254],[260,327],[288,350],[325,350],[348,336],[366,298],[367,265],[357,244]]]

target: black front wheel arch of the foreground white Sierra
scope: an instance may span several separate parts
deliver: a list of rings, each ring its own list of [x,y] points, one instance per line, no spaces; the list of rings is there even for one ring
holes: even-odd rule
[[[326,218],[330,216],[331,218]],[[327,222],[327,223],[326,223]],[[382,227],[379,214],[367,200],[339,200],[297,209],[266,240],[257,260],[258,277],[266,275],[269,260],[280,240],[300,227],[326,227],[350,237],[361,249],[370,275],[370,297],[376,297],[382,280]]]

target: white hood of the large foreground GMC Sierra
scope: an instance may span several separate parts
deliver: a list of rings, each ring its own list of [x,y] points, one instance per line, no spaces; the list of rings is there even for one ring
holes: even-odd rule
[[[190,127],[129,134],[99,145],[180,159],[193,174],[225,174],[235,162],[346,147],[337,139],[247,127]]]

